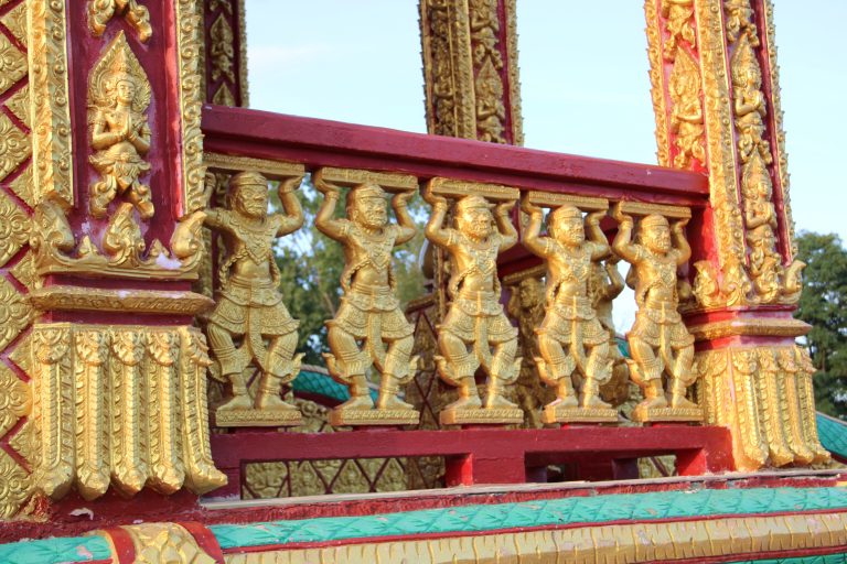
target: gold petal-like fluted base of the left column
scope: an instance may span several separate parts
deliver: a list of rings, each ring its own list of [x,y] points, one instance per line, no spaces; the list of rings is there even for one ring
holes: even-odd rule
[[[55,324],[33,335],[39,491],[58,499],[75,484],[94,499],[109,485],[203,494],[226,482],[205,436],[208,359],[196,329]]]

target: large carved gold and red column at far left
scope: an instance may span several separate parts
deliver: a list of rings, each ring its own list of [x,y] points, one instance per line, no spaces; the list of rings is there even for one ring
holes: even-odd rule
[[[0,7],[18,39],[3,47],[0,34],[0,48],[26,53],[0,118],[14,116],[0,149],[13,219],[0,229],[0,422],[17,465],[0,453],[6,517],[31,494],[225,482],[193,327],[211,301],[191,291],[205,207],[197,13],[196,0]]]

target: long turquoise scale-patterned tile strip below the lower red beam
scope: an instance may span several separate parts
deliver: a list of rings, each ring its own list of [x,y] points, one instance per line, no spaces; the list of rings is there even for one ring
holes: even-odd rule
[[[847,508],[844,488],[750,488],[619,494],[403,513],[315,518],[210,529],[223,549],[342,542],[350,539],[493,532],[611,521]]]

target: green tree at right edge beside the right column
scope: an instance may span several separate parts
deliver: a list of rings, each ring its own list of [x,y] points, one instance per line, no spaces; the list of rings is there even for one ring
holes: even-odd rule
[[[815,375],[817,409],[847,419],[847,250],[835,234],[797,237],[803,294],[796,317],[812,325],[806,337]]]

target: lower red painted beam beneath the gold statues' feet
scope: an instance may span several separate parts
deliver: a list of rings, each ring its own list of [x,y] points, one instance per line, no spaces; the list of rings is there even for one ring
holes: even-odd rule
[[[676,454],[680,474],[731,469],[725,427],[686,426],[453,431],[357,430],[350,433],[235,431],[212,435],[218,468],[232,478],[244,463],[444,456],[448,485],[519,484],[526,469],[604,455],[630,459]],[[236,484],[230,487],[236,488]],[[233,491],[234,492],[234,491]]]

